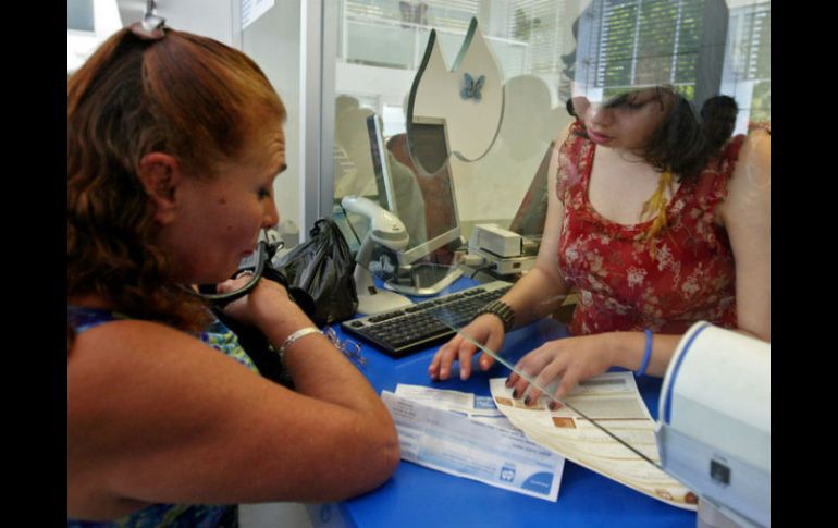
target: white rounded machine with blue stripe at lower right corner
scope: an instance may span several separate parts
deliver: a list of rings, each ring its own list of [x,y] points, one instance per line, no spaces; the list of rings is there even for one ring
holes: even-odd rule
[[[699,500],[699,527],[771,526],[771,344],[697,322],[661,388],[661,466]]]

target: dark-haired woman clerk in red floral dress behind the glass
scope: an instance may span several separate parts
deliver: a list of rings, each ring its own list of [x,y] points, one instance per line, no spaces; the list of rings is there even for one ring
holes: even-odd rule
[[[736,113],[732,99],[719,101]],[[729,139],[730,126],[711,115],[700,122],[662,86],[604,105],[575,97],[572,107],[577,121],[551,162],[555,192],[535,267],[464,332],[500,349],[505,331],[576,291],[572,336],[518,364],[542,386],[559,378],[558,397],[612,366],[663,376],[699,320],[769,341],[769,134]],[[467,379],[476,352],[455,336],[434,356],[431,378],[447,379],[458,359]],[[483,355],[478,365],[493,363]],[[507,384],[521,395],[528,382],[513,374]],[[531,388],[528,398],[539,395]]]

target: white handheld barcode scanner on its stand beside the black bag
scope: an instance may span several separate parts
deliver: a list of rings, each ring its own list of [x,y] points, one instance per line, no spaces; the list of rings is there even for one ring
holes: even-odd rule
[[[341,205],[347,212],[361,214],[370,220],[370,229],[355,257],[355,288],[358,292],[358,314],[372,315],[409,306],[412,302],[394,292],[377,288],[369,270],[373,244],[399,251],[407,247],[409,237],[402,220],[374,201],[361,196],[345,196]]]

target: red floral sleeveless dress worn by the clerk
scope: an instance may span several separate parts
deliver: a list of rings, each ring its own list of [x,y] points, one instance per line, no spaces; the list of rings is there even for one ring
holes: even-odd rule
[[[556,192],[564,204],[558,265],[579,302],[574,335],[648,328],[683,333],[699,320],[735,328],[734,255],[713,221],[744,136],[732,138],[702,174],[685,181],[666,207],[667,225],[644,240],[651,222],[623,225],[588,199],[595,145],[574,132],[559,149]],[[650,244],[655,245],[652,256]]]

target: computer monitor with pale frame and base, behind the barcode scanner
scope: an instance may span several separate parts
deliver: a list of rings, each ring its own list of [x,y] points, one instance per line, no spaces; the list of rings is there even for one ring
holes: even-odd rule
[[[367,118],[379,202],[396,214],[410,234],[407,247],[398,251],[397,258],[399,268],[412,267],[412,272],[407,280],[400,277],[386,286],[414,295],[432,295],[456,279],[456,268],[421,260],[459,241],[460,225],[447,161],[451,149],[445,120],[424,120],[414,123],[412,127],[414,148],[420,149],[423,156],[434,157],[441,164],[433,174],[399,162],[384,146],[380,120],[375,115]]]

